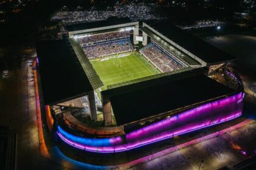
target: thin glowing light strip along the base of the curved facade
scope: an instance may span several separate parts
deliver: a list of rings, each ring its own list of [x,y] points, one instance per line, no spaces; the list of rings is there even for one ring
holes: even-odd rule
[[[124,152],[124,151],[129,151],[130,149],[135,149],[135,148],[138,148],[138,147],[141,147],[141,146],[145,146],[146,144],[151,144],[151,143],[155,143],[157,141],[162,141],[162,140],[165,140],[167,138],[171,138],[171,137],[174,137],[174,136],[177,136],[177,135],[182,135],[182,134],[186,134],[188,132],[192,132],[192,131],[197,131],[199,129],[202,129],[202,128],[205,128],[205,127],[210,127],[210,126],[214,126],[216,124],[219,124],[219,123],[223,123],[225,121],[229,121],[229,120],[232,120],[234,118],[237,118],[237,117],[240,117],[241,114],[235,114],[233,115],[233,117],[230,117],[229,119],[225,119],[225,120],[222,120],[218,123],[215,123],[215,124],[209,124],[207,126],[202,126],[202,127],[199,127],[199,128],[194,128],[194,129],[191,129],[189,131],[185,131],[185,132],[181,132],[179,134],[176,134],[176,135],[170,135],[169,137],[163,137],[163,138],[160,138],[160,139],[157,139],[157,140],[154,140],[154,141],[149,141],[148,143],[138,143],[138,144],[133,144],[132,147],[127,147],[127,146],[124,146],[124,145],[129,145],[129,143],[127,144],[123,144],[123,146],[107,146],[107,147],[96,147],[96,146],[85,146],[84,144],[79,144],[79,143],[76,143],[74,141],[71,141],[71,140],[68,140],[67,138],[63,137],[62,134],[60,134],[59,131],[57,131],[57,134],[59,135],[59,137],[65,141],[65,143],[68,143],[69,145],[71,146],[74,146],[75,148],[78,148],[78,149],[83,149],[85,151],[90,151],[90,152],[101,152],[101,153],[113,153],[113,152]],[[118,149],[119,148],[119,149]],[[123,149],[121,149],[123,148]],[[116,150],[118,149],[118,150]],[[104,151],[104,150],[108,150],[108,151]]]

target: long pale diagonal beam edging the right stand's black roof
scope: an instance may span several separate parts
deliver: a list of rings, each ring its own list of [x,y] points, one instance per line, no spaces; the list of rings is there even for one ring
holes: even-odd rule
[[[153,29],[152,27],[150,27],[148,24],[143,22],[143,27],[147,27],[149,30],[151,30],[152,32],[154,32],[156,35],[160,36],[161,38],[165,39],[165,41],[169,42],[170,44],[172,44],[172,46],[176,47],[177,49],[181,50],[182,52],[186,53],[187,55],[191,56],[191,58],[194,58],[194,60],[198,61],[199,63],[202,64],[202,66],[207,66],[207,63],[205,63],[205,61],[201,60],[200,58],[198,58],[196,55],[193,55],[193,53],[188,52],[188,50],[184,49],[183,47],[179,46],[178,44],[176,44],[174,41],[171,41],[171,39],[166,38],[166,36],[163,36],[161,33],[157,32],[157,30]]]

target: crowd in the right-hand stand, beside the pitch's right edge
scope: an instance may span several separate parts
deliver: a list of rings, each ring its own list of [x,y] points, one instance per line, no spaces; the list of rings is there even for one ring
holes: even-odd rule
[[[140,52],[163,72],[171,72],[172,70],[178,70],[185,67],[174,60],[171,55],[163,52],[163,49],[160,49],[160,47],[152,42],[141,49]]]

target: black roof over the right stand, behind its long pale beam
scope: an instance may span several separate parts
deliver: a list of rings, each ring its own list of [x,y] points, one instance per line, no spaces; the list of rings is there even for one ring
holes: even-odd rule
[[[190,33],[174,26],[168,21],[145,21],[153,29],[162,33],[163,36],[174,41],[179,46],[193,53],[201,60],[209,64],[224,63],[226,61],[235,60],[235,57],[214,47],[202,39],[191,35]]]

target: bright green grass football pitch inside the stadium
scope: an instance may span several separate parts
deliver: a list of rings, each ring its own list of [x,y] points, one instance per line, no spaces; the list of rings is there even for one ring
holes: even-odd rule
[[[137,52],[105,56],[90,60],[94,69],[104,83],[102,90],[108,85],[148,77],[160,73]]]

